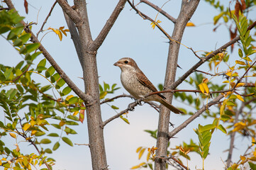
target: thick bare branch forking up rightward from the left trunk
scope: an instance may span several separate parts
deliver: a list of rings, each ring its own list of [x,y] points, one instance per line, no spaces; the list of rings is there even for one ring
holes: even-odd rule
[[[126,0],[118,1],[116,8],[111,13],[111,16],[108,18],[108,21],[106,21],[106,24],[105,24],[104,28],[102,28],[101,33],[99,33],[98,37],[94,40],[94,42],[91,43],[91,45],[90,45],[91,51],[96,51],[99,49],[102,42],[104,42],[106,35],[108,35],[113,24],[115,23],[119,14],[123,10],[125,4],[126,4]]]

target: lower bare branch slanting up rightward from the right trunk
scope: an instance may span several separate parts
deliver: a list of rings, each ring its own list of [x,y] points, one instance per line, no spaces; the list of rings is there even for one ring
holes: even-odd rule
[[[208,109],[209,107],[215,105],[216,103],[219,103],[219,101],[221,100],[221,98],[223,98],[224,96],[221,94],[220,96],[214,98],[212,101],[210,101],[209,103],[207,103],[205,106],[203,106],[202,108],[199,109],[199,111],[197,111],[196,113],[194,113],[194,115],[191,115],[190,118],[188,118],[187,120],[184,121],[184,123],[182,123],[181,125],[179,125],[177,128],[175,128],[174,130],[172,130],[171,132],[169,132],[169,138],[173,137],[174,135],[176,135],[179,131],[181,131],[183,128],[187,127],[187,125],[189,125],[189,123],[191,123],[193,120],[195,120],[197,117],[199,117],[199,115],[201,115],[201,113],[203,113],[204,111],[206,111],[206,109]]]

